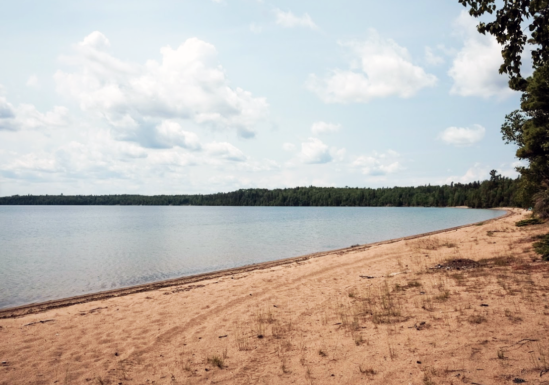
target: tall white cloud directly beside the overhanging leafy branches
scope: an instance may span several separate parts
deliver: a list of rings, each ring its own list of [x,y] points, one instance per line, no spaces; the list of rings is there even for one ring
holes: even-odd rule
[[[477,20],[466,11],[455,21],[454,29],[464,42],[448,71],[453,79],[450,94],[505,98],[513,90],[508,87],[508,76],[498,72],[503,61],[502,47],[489,33],[478,33],[476,25]]]

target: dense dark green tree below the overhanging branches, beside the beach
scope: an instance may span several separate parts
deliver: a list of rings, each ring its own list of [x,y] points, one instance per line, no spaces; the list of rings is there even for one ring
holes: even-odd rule
[[[521,97],[521,110],[505,117],[501,127],[506,143],[518,146],[517,157],[529,162],[518,167],[522,176],[518,199],[549,217],[549,64],[534,71]]]

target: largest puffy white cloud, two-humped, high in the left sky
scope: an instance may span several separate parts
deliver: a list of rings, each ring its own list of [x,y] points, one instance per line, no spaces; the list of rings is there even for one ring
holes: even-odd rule
[[[144,65],[115,58],[109,47],[103,33],[92,32],[76,44],[74,55],[61,58],[74,71],[59,70],[54,79],[58,92],[74,98],[82,110],[125,134],[138,133],[125,138],[137,140],[139,130],[154,129],[151,122],[177,118],[250,138],[267,115],[265,98],[229,86],[212,44],[189,38],[176,49],[161,48],[161,61]]]

